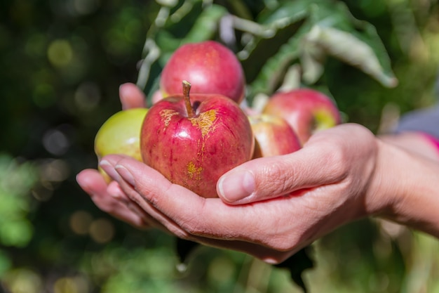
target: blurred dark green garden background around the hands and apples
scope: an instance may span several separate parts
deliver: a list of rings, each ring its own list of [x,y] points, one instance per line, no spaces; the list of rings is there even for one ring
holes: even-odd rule
[[[298,83],[376,134],[438,98],[435,0],[6,0],[0,19],[0,292],[301,292],[288,271],[210,247],[179,273],[173,237],[113,219],[76,184],[96,167],[119,85],[150,97],[185,42],[234,50],[250,104]],[[439,292],[438,248],[358,221],[313,244],[304,280],[310,292]]]

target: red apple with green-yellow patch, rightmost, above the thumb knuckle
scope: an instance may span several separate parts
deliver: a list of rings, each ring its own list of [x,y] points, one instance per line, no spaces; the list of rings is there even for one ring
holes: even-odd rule
[[[302,145],[316,131],[342,123],[340,112],[332,99],[313,89],[274,93],[262,112],[283,117],[295,130]]]

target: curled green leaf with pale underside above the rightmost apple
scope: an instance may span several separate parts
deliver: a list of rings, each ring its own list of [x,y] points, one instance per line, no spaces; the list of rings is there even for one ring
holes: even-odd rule
[[[263,66],[257,70],[259,74],[250,86],[250,100],[257,93],[276,91],[286,69],[295,62],[302,67],[304,83],[318,82],[325,68],[325,56],[333,56],[358,67],[384,86],[397,84],[389,55],[374,26],[353,18],[340,1],[282,2],[276,9],[264,11],[259,21],[276,30],[275,36],[269,39],[271,45],[276,44],[283,26],[300,22],[302,25],[290,32],[290,39],[278,51],[266,51]],[[251,54],[261,50],[263,43],[262,40],[255,42],[255,51],[250,51],[248,60],[243,61],[245,65],[255,60]]]

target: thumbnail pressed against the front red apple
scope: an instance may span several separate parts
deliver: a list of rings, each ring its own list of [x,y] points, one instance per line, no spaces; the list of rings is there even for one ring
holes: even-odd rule
[[[250,171],[238,171],[219,179],[218,193],[227,202],[236,202],[255,192],[255,178]]]

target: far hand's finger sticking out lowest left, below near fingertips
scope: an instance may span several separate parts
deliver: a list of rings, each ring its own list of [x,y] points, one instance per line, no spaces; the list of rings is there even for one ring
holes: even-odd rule
[[[76,176],[76,181],[102,211],[136,228],[143,229],[148,227],[147,223],[144,223],[140,216],[107,193],[107,183],[97,170],[86,169],[81,171]]]

